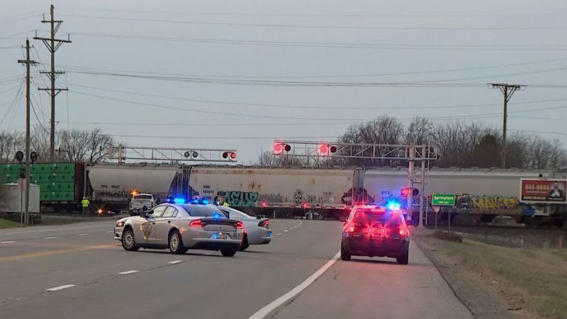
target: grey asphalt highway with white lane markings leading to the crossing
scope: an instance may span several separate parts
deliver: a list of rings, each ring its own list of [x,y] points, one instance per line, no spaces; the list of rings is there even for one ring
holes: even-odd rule
[[[339,222],[272,220],[232,258],[125,252],[113,224],[0,230],[0,318],[473,318],[413,243],[408,266],[337,260]]]

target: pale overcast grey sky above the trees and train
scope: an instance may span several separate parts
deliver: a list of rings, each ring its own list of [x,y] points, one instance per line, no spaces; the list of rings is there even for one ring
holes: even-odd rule
[[[564,0],[2,0],[0,130],[24,128],[23,97],[10,108],[23,83],[16,61],[26,35],[47,36],[41,13],[51,3],[64,20],[58,38],[72,40],[56,54],[68,71],[58,85],[69,87],[57,96],[58,129],[99,126],[137,146],[233,147],[247,164],[273,138],[333,140],[383,114],[500,128],[503,96],[485,84],[508,82],[527,84],[508,128],[567,143]],[[32,42],[46,64],[33,69],[33,99],[48,127],[49,97],[37,88],[49,54]],[[377,85],[399,82],[421,83]]]

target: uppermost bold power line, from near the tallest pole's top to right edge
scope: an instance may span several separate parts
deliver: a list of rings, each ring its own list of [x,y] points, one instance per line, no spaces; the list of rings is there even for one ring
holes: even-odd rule
[[[156,23],[183,23],[206,26],[246,26],[262,28],[313,28],[313,29],[343,29],[343,30],[567,30],[567,27],[428,27],[428,26],[322,26],[304,24],[278,24],[278,23],[238,23],[238,22],[213,22],[213,21],[191,21],[191,20],[172,20],[157,18],[124,18],[116,16],[88,16],[81,14],[67,14],[74,18],[94,18],[102,20],[116,21],[137,21],[137,22],[156,22]]]

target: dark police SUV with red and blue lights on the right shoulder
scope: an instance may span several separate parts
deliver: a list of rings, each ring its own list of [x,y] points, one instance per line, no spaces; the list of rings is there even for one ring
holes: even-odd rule
[[[408,264],[410,233],[400,210],[355,206],[344,223],[341,259],[391,257]]]

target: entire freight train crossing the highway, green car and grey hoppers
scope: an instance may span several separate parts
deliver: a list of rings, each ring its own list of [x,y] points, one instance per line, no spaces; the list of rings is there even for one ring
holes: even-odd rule
[[[17,179],[18,164],[0,165],[4,182]],[[262,168],[245,166],[188,166],[182,164],[34,164],[31,181],[41,188],[45,209],[78,210],[83,196],[102,211],[128,208],[133,191],[153,194],[157,201],[223,195],[230,206],[249,213],[298,216],[318,211],[342,218],[357,203],[400,201],[410,213],[419,211],[419,195],[407,201],[400,189],[408,186],[405,167],[373,169]],[[455,213],[477,216],[546,216],[563,222],[565,204],[520,202],[521,179],[566,179],[566,171],[524,169],[430,169],[423,195],[456,194]],[[431,213],[427,205],[426,213]]]

